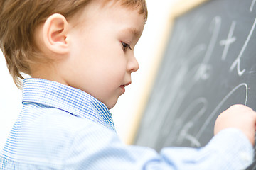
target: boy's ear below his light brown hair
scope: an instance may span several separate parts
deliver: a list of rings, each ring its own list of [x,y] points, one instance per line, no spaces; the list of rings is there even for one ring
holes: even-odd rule
[[[43,42],[48,50],[57,54],[68,53],[67,34],[68,21],[63,15],[55,13],[46,19],[43,25]]]

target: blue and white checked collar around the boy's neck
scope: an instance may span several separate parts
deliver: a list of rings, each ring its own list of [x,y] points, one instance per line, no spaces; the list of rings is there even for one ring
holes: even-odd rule
[[[107,106],[80,89],[45,79],[24,79],[22,103],[31,102],[87,118],[115,131],[112,114]]]

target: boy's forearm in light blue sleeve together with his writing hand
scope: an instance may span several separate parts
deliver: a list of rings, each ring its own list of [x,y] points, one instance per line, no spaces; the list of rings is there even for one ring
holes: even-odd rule
[[[234,105],[218,116],[215,137],[206,147],[197,151],[188,151],[186,148],[176,148],[175,151],[175,148],[169,148],[166,149],[169,152],[164,149],[162,154],[175,162],[180,161],[181,166],[187,162],[187,167],[183,169],[245,169],[253,161],[255,125],[255,111],[247,106]]]

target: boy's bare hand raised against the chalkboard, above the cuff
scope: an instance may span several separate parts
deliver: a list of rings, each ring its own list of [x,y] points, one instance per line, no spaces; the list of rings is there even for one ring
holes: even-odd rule
[[[233,105],[221,113],[214,127],[214,135],[225,128],[238,128],[255,145],[256,113],[251,108],[243,105]]]

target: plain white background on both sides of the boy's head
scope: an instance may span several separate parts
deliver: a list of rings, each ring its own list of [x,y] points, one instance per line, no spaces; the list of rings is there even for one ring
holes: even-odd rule
[[[127,86],[126,93],[119,98],[117,105],[111,112],[117,133],[126,141],[132,120],[136,116],[137,103],[140,92],[146,86],[146,74],[154,60],[161,32],[164,30],[169,9],[178,0],[146,0],[149,18],[144,28],[142,38],[135,48],[135,55],[139,62],[139,71],[132,74],[132,84]],[[129,13],[127,13],[129,15]],[[21,91],[14,85],[6,67],[4,56],[0,51],[0,149],[6,142],[11,126],[14,124],[21,110]]]

